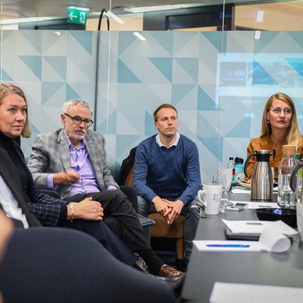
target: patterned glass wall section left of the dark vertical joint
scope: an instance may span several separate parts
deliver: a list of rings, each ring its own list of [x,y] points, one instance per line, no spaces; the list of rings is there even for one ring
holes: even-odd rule
[[[30,105],[32,137],[22,140],[25,157],[39,132],[61,128],[61,106],[81,97],[94,106],[96,33],[4,30],[1,82],[20,86]]]

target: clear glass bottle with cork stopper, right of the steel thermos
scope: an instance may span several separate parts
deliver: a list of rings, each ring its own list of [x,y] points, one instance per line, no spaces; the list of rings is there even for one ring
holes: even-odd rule
[[[295,192],[290,187],[292,171],[297,166],[295,145],[283,145],[283,158],[278,168],[278,205],[295,206]]]

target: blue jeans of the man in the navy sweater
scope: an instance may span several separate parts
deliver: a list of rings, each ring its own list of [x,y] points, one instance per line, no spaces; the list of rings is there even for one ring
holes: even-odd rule
[[[173,201],[175,198],[166,198]],[[199,209],[192,209],[191,206],[196,204],[197,199],[193,199],[192,202],[188,202],[183,206],[181,214],[185,216],[185,225],[184,225],[184,242],[185,242],[185,264],[190,261],[190,254],[192,252],[192,240],[196,235],[197,226],[199,223]],[[141,196],[138,196],[138,214],[147,217],[149,214],[156,213],[154,203],[144,199]],[[143,228],[147,239],[149,239],[149,228]]]

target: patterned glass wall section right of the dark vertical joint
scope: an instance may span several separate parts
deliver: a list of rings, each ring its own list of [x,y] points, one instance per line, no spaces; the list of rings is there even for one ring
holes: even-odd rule
[[[165,102],[178,109],[180,132],[197,143],[204,182],[229,156],[246,158],[271,94],[282,91],[294,99],[302,129],[301,32],[262,32],[259,40],[252,31],[142,34],[147,41],[132,32],[101,38],[110,73],[100,71],[98,130],[115,151],[109,161],[113,167],[116,161],[117,171],[130,149],[155,133],[152,113]]]

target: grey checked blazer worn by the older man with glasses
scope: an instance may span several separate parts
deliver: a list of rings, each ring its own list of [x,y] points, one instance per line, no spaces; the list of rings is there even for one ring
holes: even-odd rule
[[[109,185],[118,187],[106,162],[105,138],[99,132],[88,130],[85,136],[85,148],[94,170],[94,175],[101,192]],[[63,129],[56,132],[39,134],[32,144],[32,153],[27,162],[37,187],[47,189],[49,173],[58,173],[70,169],[70,151]],[[66,199],[72,186],[61,184],[56,187],[61,199]]]

